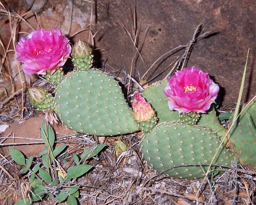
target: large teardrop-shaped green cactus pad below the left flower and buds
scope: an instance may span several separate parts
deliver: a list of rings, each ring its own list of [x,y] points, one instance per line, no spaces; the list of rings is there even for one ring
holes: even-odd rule
[[[88,135],[112,136],[138,131],[121,87],[99,70],[77,70],[56,90],[58,117],[69,128]]]

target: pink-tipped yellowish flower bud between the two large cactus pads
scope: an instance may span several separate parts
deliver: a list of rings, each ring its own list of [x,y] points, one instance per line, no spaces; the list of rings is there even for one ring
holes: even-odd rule
[[[135,94],[132,108],[133,118],[137,122],[149,122],[155,114],[155,110],[151,105],[138,93]]]

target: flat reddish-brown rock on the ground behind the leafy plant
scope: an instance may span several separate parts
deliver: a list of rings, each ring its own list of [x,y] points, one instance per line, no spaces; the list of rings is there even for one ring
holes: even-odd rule
[[[40,136],[40,128],[41,124],[44,120],[44,116],[40,117],[32,117],[30,119],[27,119],[21,124],[14,124],[8,128],[5,129],[5,132],[3,134],[3,137],[19,137],[19,138],[7,138],[3,143],[29,143],[29,142],[41,142],[37,139],[41,140]],[[72,135],[75,134],[75,131],[66,128],[65,126],[58,126],[54,125],[53,129],[57,134],[58,137],[64,136],[64,135]],[[29,139],[27,139],[29,138]],[[34,140],[35,139],[35,140]],[[64,140],[63,143],[70,142],[70,140]],[[56,146],[61,145],[60,143],[57,143]],[[75,146],[76,144],[67,144],[70,146]],[[16,145],[14,148],[20,150],[23,152],[23,154],[26,155],[26,157],[30,156],[37,156],[41,151],[44,150],[45,144],[30,144],[30,145]],[[3,151],[5,155],[9,155],[9,148],[8,146],[3,147]]]

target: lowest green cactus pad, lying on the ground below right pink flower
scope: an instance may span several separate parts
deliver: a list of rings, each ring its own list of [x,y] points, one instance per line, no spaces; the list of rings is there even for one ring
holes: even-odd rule
[[[180,123],[163,123],[145,134],[141,142],[141,150],[144,159],[153,169],[162,172],[175,165],[210,164],[220,143],[220,138],[209,128]],[[213,164],[230,165],[234,156],[222,145]],[[206,172],[208,167],[203,167],[203,169]],[[168,170],[165,174],[173,178],[204,177],[200,166],[178,167]]]

